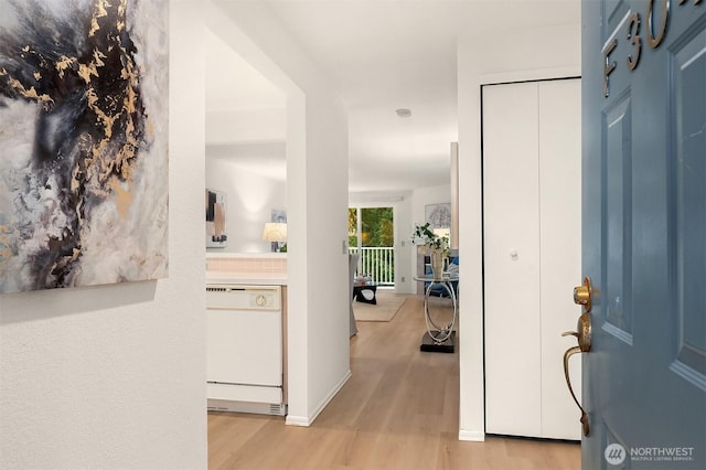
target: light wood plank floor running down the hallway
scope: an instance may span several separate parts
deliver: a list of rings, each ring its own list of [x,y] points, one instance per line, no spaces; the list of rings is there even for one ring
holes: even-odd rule
[[[309,428],[281,417],[208,414],[208,468],[578,469],[571,442],[486,437],[458,440],[458,353],[419,351],[422,302],[391,322],[359,322],[353,376]]]

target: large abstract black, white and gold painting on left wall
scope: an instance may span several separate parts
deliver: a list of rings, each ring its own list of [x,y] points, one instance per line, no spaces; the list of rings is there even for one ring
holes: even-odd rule
[[[0,0],[0,292],[168,275],[168,9]]]

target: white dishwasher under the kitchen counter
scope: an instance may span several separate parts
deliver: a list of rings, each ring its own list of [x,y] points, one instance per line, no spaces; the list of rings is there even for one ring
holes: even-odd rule
[[[206,285],[208,410],[286,414],[280,286]]]

